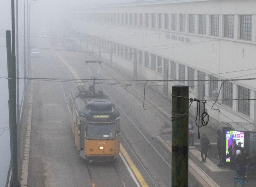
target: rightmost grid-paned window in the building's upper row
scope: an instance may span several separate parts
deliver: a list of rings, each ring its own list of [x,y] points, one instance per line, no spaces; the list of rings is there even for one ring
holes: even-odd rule
[[[241,15],[240,39],[252,40],[252,15]]]

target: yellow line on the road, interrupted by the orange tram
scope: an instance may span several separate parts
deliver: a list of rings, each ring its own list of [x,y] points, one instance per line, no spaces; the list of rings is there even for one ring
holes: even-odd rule
[[[79,75],[76,73],[76,71],[69,65],[69,63],[67,61],[65,61],[57,52],[55,52],[56,55],[59,57],[59,59],[70,69],[70,71],[74,74],[74,76],[76,77],[76,79],[79,79]],[[82,85],[82,83],[78,83],[79,85]],[[123,145],[120,143],[120,151],[123,154],[123,156],[125,157],[127,163],[129,164],[130,168],[132,169],[133,173],[135,174],[136,178],[138,179],[140,185],[142,187],[148,187],[146,181],[144,180],[143,176],[141,175],[141,173],[139,172],[138,168],[136,167],[136,165],[133,163],[131,157],[128,155],[128,153],[126,152],[126,150],[124,149]]]

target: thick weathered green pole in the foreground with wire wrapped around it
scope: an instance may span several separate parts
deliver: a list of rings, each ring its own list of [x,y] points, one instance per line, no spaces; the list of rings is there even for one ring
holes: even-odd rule
[[[172,187],[188,186],[188,86],[172,86]]]

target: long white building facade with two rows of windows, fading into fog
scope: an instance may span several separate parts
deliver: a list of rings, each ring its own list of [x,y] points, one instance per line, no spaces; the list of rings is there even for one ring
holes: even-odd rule
[[[236,123],[256,130],[256,1],[148,1],[73,10],[73,37],[113,67],[171,85],[189,86],[190,97],[207,101],[211,120],[220,128]],[[229,81],[218,81],[230,79]],[[211,81],[208,81],[211,80]],[[216,81],[214,81],[216,80]],[[169,93],[169,94],[168,94]],[[243,100],[230,100],[243,99]],[[195,114],[196,103],[193,104]],[[193,112],[194,111],[194,112]]]

